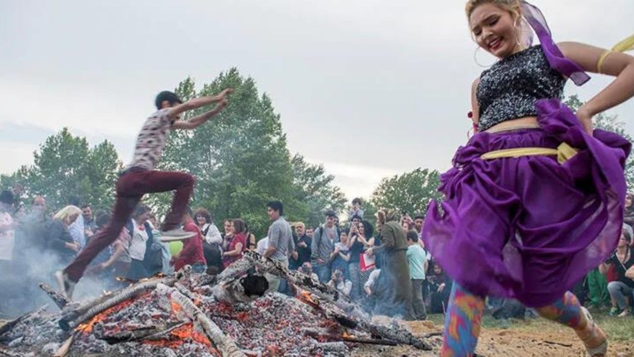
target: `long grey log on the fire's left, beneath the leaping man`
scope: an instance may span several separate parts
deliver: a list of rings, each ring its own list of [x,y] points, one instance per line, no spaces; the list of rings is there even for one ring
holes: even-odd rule
[[[81,316],[79,316],[76,320],[72,320],[72,321],[67,320],[67,318],[70,317],[70,315],[68,315],[66,318],[62,318],[59,323],[60,327],[62,330],[68,331],[72,328],[77,327],[79,324],[90,320],[94,315],[101,313],[107,309],[110,309],[110,307],[119,305],[120,303],[126,300],[132,299],[133,297],[138,297],[139,295],[142,295],[145,292],[153,290],[159,284],[174,285],[174,283],[176,283],[177,280],[178,279],[175,277],[168,277],[168,278],[148,280],[148,281],[144,281],[143,283],[137,283],[136,285],[129,286],[121,290],[120,292],[115,293],[108,299],[103,300],[99,304],[94,305],[93,307],[88,309],[85,313],[83,313]]]

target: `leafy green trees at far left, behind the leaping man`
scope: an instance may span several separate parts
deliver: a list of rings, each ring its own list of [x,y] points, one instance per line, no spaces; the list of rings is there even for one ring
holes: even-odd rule
[[[20,185],[23,198],[42,195],[49,208],[61,208],[77,196],[95,207],[113,203],[114,182],[122,169],[114,145],[101,142],[93,148],[86,138],[74,137],[67,128],[46,138],[33,153],[34,164],[0,177],[1,187]]]

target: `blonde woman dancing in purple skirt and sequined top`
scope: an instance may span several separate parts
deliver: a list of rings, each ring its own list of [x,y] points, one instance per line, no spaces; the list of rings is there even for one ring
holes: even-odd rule
[[[425,244],[456,281],[441,355],[474,354],[484,297],[495,295],[573,328],[591,356],[604,356],[605,334],[568,290],[621,234],[630,143],[593,130],[592,116],[634,95],[634,58],[556,45],[524,1],[469,0],[466,13],[498,62],[474,82],[477,133],[441,177],[443,212],[432,203],[424,225]],[[616,79],[573,113],[560,102],[564,84],[585,83],[586,71]]]

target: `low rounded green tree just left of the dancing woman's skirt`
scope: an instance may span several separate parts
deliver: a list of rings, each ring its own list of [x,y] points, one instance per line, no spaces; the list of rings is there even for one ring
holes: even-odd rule
[[[411,217],[424,215],[430,199],[442,197],[439,184],[439,173],[427,168],[385,178],[372,193],[372,205],[407,212]]]

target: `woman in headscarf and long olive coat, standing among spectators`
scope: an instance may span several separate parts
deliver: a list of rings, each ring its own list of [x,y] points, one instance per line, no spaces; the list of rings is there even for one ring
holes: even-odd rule
[[[382,255],[381,274],[377,281],[382,296],[375,313],[402,316],[407,320],[411,318],[411,282],[405,231],[396,221],[393,210],[379,210],[375,217],[381,245],[366,251]]]

